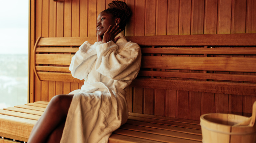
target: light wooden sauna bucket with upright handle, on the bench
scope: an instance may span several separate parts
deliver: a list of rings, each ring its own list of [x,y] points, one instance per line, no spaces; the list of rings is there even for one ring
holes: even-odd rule
[[[203,143],[256,143],[256,101],[252,116],[204,114],[200,117]]]

